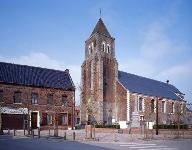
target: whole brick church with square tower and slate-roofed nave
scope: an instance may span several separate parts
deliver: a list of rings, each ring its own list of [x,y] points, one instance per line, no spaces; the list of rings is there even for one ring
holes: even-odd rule
[[[118,70],[115,38],[100,18],[85,41],[81,66],[81,123],[140,127],[142,121],[170,124],[182,121],[184,94],[161,82]]]

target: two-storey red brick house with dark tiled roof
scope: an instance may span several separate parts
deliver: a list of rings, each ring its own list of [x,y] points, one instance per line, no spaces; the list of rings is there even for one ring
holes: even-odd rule
[[[65,71],[0,62],[2,127],[73,126],[75,86]],[[27,117],[30,119],[27,119]]]

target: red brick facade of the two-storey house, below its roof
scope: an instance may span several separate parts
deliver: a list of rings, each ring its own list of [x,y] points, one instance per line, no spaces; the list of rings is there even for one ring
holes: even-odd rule
[[[31,87],[11,84],[0,84],[0,91],[3,92],[2,107],[6,108],[27,108],[29,114],[37,113],[37,127],[46,127],[53,125],[54,115],[57,118],[59,127],[67,128],[72,126],[74,91],[65,91],[62,89]],[[21,93],[21,102],[14,103],[14,93]],[[37,94],[37,103],[32,104],[32,93]],[[52,102],[48,104],[48,95],[52,95]],[[62,101],[62,97],[66,98],[66,102]],[[47,115],[50,115],[48,123]],[[64,115],[65,118],[62,118]],[[30,123],[32,126],[32,122]]]

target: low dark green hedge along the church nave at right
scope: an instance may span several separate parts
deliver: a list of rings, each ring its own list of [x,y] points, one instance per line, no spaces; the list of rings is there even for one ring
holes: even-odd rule
[[[154,125],[153,126],[153,129],[156,129],[157,128],[157,125]],[[171,125],[168,125],[168,124],[159,124],[158,125],[158,129],[178,129],[178,125],[177,124],[171,124]],[[188,125],[186,124],[181,124],[180,125],[180,129],[188,129]]]

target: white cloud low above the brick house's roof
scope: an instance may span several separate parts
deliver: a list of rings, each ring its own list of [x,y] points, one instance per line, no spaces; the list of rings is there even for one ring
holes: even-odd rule
[[[80,75],[81,75],[81,70],[80,70],[81,67],[79,65],[72,65],[72,64],[67,64],[66,62],[59,62],[41,52],[29,53],[29,55],[13,57],[13,58],[0,56],[0,61],[29,65],[29,66],[36,66],[36,67],[44,67],[49,69],[57,69],[57,70],[63,70],[63,71],[65,69],[69,69],[73,82],[77,88],[76,102],[79,103],[80,91],[78,90],[78,84],[80,84]]]

